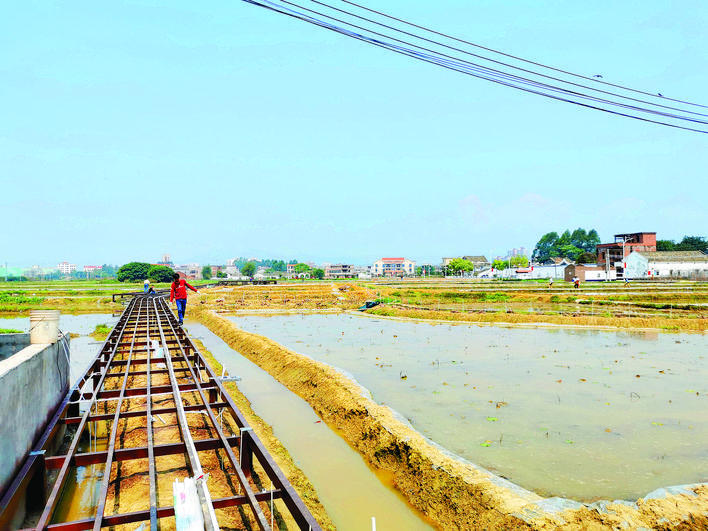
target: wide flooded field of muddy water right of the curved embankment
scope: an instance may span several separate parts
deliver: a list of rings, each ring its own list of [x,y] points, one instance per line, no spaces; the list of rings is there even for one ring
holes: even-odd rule
[[[344,369],[448,450],[544,495],[708,480],[708,336],[231,317]]]

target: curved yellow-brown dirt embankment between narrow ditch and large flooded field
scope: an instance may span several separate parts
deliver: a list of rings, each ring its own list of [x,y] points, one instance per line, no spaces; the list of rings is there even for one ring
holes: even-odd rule
[[[373,467],[390,472],[396,488],[443,529],[708,528],[705,486],[634,504],[543,499],[430,444],[335,369],[244,332],[213,312],[198,309],[192,315],[307,400]]]

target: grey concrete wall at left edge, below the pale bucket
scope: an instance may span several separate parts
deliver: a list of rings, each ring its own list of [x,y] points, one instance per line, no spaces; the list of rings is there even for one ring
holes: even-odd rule
[[[60,342],[29,345],[0,361],[0,492],[68,390],[69,361]]]

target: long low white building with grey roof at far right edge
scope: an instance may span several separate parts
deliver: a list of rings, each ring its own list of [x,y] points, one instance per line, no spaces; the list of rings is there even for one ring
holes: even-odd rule
[[[634,251],[624,265],[625,278],[708,278],[701,251]]]

